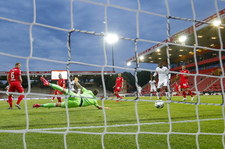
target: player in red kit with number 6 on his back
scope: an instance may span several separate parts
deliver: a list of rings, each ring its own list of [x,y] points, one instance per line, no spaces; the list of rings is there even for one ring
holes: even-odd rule
[[[21,64],[16,63],[15,68],[12,68],[8,73],[7,81],[9,83],[9,92],[18,91],[19,93],[24,93],[20,67],[21,67]],[[24,98],[24,95],[20,95],[18,97],[18,100],[15,105],[18,109],[21,109],[20,102],[23,100],[23,98]],[[12,103],[13,103],[12,94],[9,94],[8,96],[8,103],[9,103],[8,109],[12,109]]]

